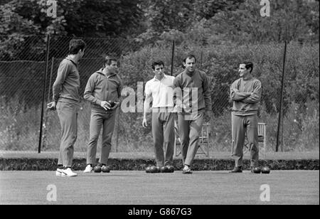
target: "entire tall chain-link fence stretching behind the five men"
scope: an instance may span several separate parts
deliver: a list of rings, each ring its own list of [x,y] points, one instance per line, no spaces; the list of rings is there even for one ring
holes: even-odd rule
[[[51,100],[52,85],[60,61],[68,55],[70,39],[50,37],[47,42],[46,36],[26,37],[19,41],[14,53],[0,53],[0,150],[37,151],[41,139],[41,151],[58,151],[58,116],[54,111],[44,112],[40,137],[41,109]],[[171,62],[174,60],[172,74],[178,75],[183,70],[181,63],[185,55],[194,53],[198,58],[198,68],[210,78],[213,118],[209,144],[213,154],[215,151],[230,151],[230,85],[239,77],[239,63],[250,60],[255,65],[253,74],[262,82],[259,122],[267,123],[267,148],[274,151],[279,136],[280,150],[319,150],[319,45],[288,44],[283,125],[277,132],[284,43],[242,45],[235,42],[206,46],[180,43],[175,46],[172,59],[172,42],[144,46],[127,39],[82,39],[87,47],[79,63],[81,96],[90,75],[102,68],[105,55],[119,58],[119,74],[124,87],[137,91],[139,83],[145,85],[154,77],[151,70],[153,60],[164,60],[167,74],[171,74]],[[7,50],[10,51],[9,48]],[[44,103],[41,101],[43,87],[46,94]],[[142,127],[142,112],[137,112],[142,102],[138,99],[136,112],[118,110],[112,151],[153,151],[151,127]],[[150,114],[148,118],[150,121]],[[75,151],[86,151],[89,126],[90,104],[82,100]]]

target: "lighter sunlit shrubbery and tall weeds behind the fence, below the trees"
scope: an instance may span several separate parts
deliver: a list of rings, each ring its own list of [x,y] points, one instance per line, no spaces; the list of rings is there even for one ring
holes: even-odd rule
[[[210,122],[210,148],[212,151],[230,151],[231,122],[229,100],[230,84],[238,78],[238,65],[243,60],[255,63],[253,75],[262,82],[262,102],[259,122],[267,123],[267,144],[274,150],[277,140],[279,116],[279,94],[281,90],[283,43],[246,44],[238,43],[196,46],[191,43],[176,45],[174,75],[181,70],[181,61],[187,53],[198,57],[198,68],[210,78],[213,118]],[[162,59],[166,73],[171,70],[171,41],[162,41],[154,46],[145,46],[123,55],[121,77],[124,86],[137,91],[138,82],[154,77],[151,62]],[[53,79],[59,60],[55,60]],[[87,78],[100,68],[101,60],[83,60],[82,92]],[[319,45],[289,43],[284,89],[284,151],[319,150]],[[32,93],[29,87],[29,93]],[[33,87],[37,90],[38,87]],[[24,94],[24,95],[27,95]],[[23,97],[23,96],[21,96]],[[2,100],[1,107],[1,149],[34,149],[38,142],[40,107],[23,102],[23,98]],[[1,105],[2,106],[2,105]],[[136,106],[137,107],[137,106]],[[151,117],[149,115],[149,119]],[[119,127],[114,131],[114,151],[152,151],[151,127],[142,127],[142,113],[123,113],[117,119]],[[60,124],[55,112],[45,117],[43,150],[58,150]],[[79,137],[76,148],[85,151],[89,137],[90,106],[82,102],[79,114]],[[28,140],[27,140],[28,139]],[[33,142],[33,143],[30,143]],[[31,146],[32,145],[32,146]]]

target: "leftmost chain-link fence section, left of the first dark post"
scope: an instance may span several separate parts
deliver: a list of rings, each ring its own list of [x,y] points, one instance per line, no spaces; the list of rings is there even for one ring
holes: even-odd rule
[[[0,150],[36,150],[46,36],[0,36]]]

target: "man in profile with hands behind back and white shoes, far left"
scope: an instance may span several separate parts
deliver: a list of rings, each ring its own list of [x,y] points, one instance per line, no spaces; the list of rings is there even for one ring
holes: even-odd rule
[[[80,103],[78,60],[84,55],[84,50],[84,41],[80,39],[70,41],[70,55],[59,65],[57,78],[53,83],[53,102],[48,104],[48,108],[57,110],[61,125],[62,137],[56,176],[77,176],[77,173],[71,170],[71,166],[73,164],[73,146],[77,139]]]

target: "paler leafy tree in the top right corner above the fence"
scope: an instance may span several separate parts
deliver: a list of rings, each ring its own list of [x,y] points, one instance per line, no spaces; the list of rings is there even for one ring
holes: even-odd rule
[[[260,15],[261,7],[245,1],[235,11],[220,11],[208,26],[232,41],[319,42],[319,1],[270,1],[270,17]]]

